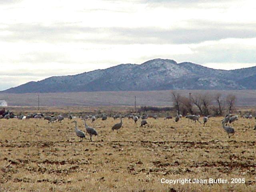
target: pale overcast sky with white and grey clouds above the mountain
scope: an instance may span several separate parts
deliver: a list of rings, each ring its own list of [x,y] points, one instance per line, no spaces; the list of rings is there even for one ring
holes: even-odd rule
[[[0,90],[154,58],[256,65],[254,0],[0,0]]]

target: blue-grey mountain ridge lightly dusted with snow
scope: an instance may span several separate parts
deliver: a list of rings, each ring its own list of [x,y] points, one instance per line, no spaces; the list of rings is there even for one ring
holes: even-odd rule
[[[154,59],[142,64],[120,64],[77,75],[53,76],[2,91],[5,93],[92,92],[134,90],[256,89],[256,66],[217,70],[191,62]]]

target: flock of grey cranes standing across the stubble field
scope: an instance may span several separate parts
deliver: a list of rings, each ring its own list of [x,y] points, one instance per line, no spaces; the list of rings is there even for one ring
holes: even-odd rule
[[[18,118],[19,120],[22,120],[22,119],[28,119],[28,118],[38,118],[38,119],[41,119],[41,118],[44,118],[44,120],[48,120],[48,123],[53,123],[53,122],[62,122],[62,120],[64,120],[64,117],[62,115],[58,115],[58,116],[50,116],[50,115],[46,115],[44,116],[43,114],[28,114],[27,116],[23,116],[22,113],[20,113],[20,115],[18,116],[15,116],[12,112],[5,112],[4,110],[1,110],[0,111],[0,118],[6,118],[6,119],[9,119],[9,118]],[[140,127],[142,126],[145,126],[148,124],[147,122],[147,118],[149,117],[148,114],[143,114],[142,116],[139,115],[139,114],[136,114],[136,115],[133,115],[133,114],[128,114],[126,116],[122,116],[122,115],[114,115],[112,116],[114,118],[114,120],[120,118],[120,122],[117,123],[117,124],[114,124],[112,126],[112,131],[116,130],[116,132],[118,133],[118,130],[120,130],[120,128],[122,127],[123,125],[123,121],[122,121],[122,118],[124,117],[128,117],[128,119],[132,119],[134,121],[134,124],[137,124],[138,120],[141,119],[140,121]],[[153,115],[151,116],[152,118],[154,119],[157,119],[158,116],[157,115]],[[243,118],[252,118],[252,115],[244,115],[242,116]],[[68,118],[71,120],[73,118],[76,118],[76,117],[73,117],[71,114],[68,115]],[[86,133],[90,136],[90,141],[92,141],[92,136],[97,136],[98,135],[98,132],[88,126],[86,124],[86,120],[91,120],[91,122],[94,122],[96,119],[98,118],[101,118],[102,121],[105,121],[108,119],[108,115],[106,114],[101,114],[101,115],[86,115],[84,116],[82,119],[84,120],[84,126],[85,126],[85,130],[86,130]],[[175,116],[175,119],[174,121],[175,122],[178,122],[180,121],[182,118],[182,115],[176,114]],[[191,120],[192,122],[199,122],[200,124],[202,124],[199,120],[200,116],[199,115],[187,115],[185,116],[185,118],[188,118],[189,120]],[[202,118],[203,120],[203,126],[205,126],[205,124],[208,122],[210,116],[204,116]],[[172,116],[170,115],[167,115],[164,120],[168,120],[168,119],[172,119]],[[231,136],[233,136],[235,134],[235,130],[233,127],[231,126],[228,126],[228,123],[229,124],[232,124],[234,123],[236,120],[238,120],[238,115],[232,115],[232,114],[227,114],[225,116],[225,118],[222,120],[222,128],[226,131],[226,133],[228,134],[228,138],[230,138]],[[82,131],[82,130],[79,130],[78,127],[77,127],[77,121],[74,120],[72,121],[72,123],[75,123],[75,132],[76,132],[76,135],[80,138],[80,141],[82,141],[82,138],[85,138],[85,133]],[[256,130],[256,126],[254,128],[254,130]]]

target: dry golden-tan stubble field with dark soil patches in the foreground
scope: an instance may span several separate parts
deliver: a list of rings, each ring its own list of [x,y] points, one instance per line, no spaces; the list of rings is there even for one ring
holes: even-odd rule
[[[78,127],[85,131],[82,120]],[[98,136],[82,142],[74,123],[0,120],[0,191],[211,191],[256,190],[255,120],[240,118],[228,138],[221,118],[208,124],[148,119],[140,128],[124,119],[88,122]],[[202,118],[201,118],[202,121]],[[178,178],[245,178],[245,184],[161,184]]]

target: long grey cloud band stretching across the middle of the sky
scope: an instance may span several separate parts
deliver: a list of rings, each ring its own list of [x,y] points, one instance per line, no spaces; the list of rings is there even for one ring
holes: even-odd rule
[[[86,42],[94,44],[191,44],[225,38],[254,38],[256,23],[227,24],[206,20],[187,20],[191,28],[90,28],[66,23],[51,26],[42,24],[14,24],[5,41],[16,42]],[[76,34],[93,34],[90,38],[76,38]],[[97,36],[99,34],[99,36]],[[104,34],[104,38],[100,37]]]

